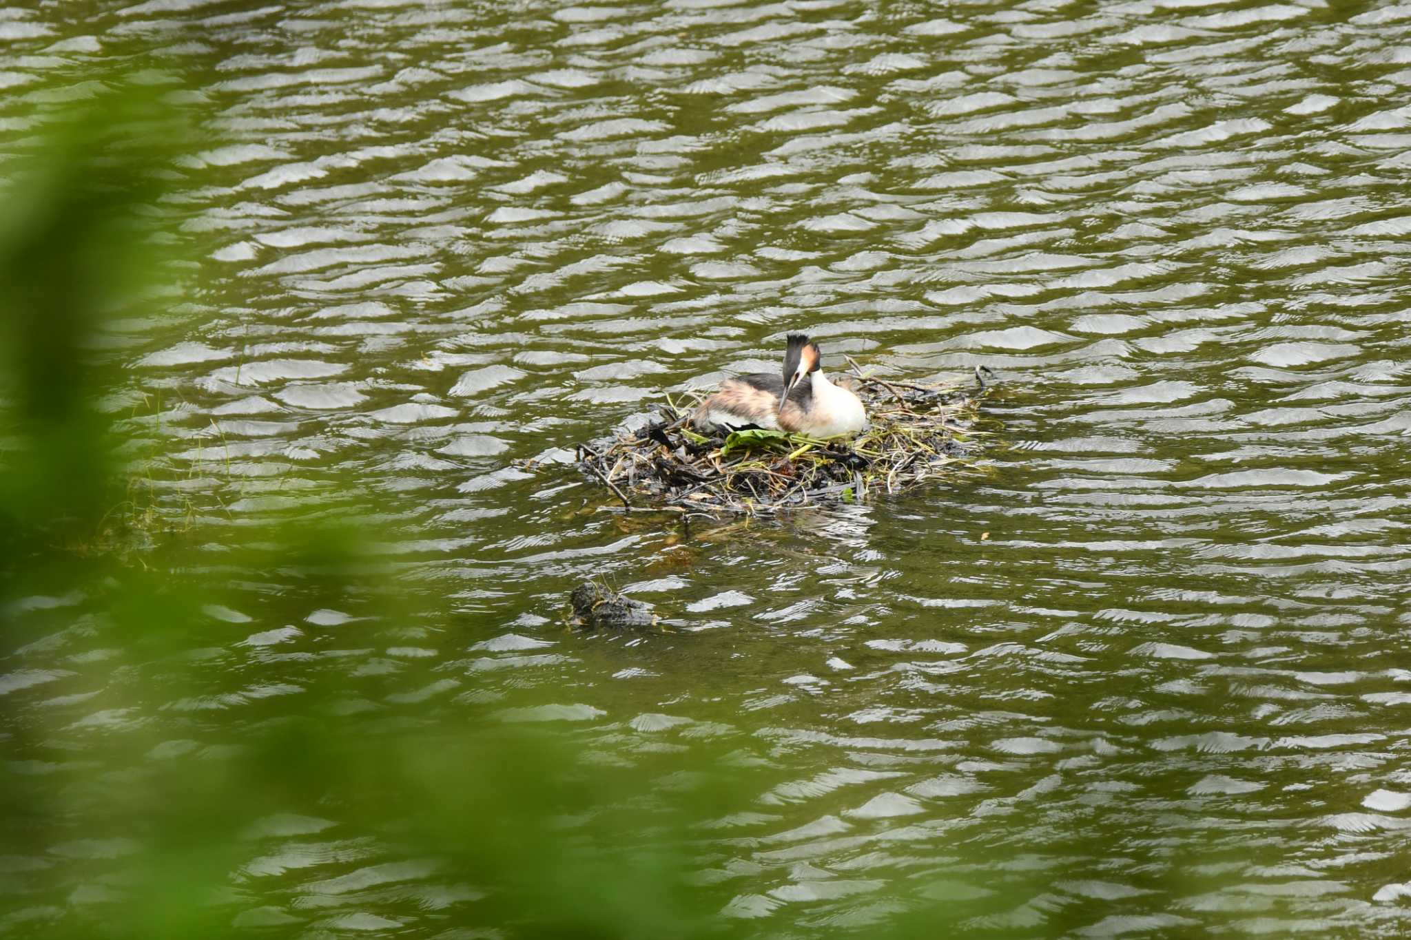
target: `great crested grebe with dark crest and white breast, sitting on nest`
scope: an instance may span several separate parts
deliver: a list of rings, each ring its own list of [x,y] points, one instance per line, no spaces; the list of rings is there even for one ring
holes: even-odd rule
[[[756,372],[725,379],[696,413],[701,431],[762,427],[810,437],[856,434],[868,426],[862,400],[828,381],[818,344],[801,333],[789,334],[783,376]]]

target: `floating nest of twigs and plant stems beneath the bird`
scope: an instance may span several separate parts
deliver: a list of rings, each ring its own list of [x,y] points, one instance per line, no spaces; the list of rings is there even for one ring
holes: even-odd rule
[[[988,372],[988,371],[985,371]],[[972,468],[986,382],[940,385],[848,376],[871,427],[849,438],[739,430],[706,437],[690,406],[617,438],[580,445],[579,468],[631,509],[718,517],[866,502]]]

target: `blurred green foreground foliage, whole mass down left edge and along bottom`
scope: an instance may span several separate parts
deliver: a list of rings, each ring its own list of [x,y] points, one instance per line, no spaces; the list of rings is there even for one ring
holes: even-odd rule
[[[116,313],[150,316],[151,297],[169,287],[181,240],[157,207],[179,180],[172,161],[192,134],[151,85],[111,78],[109,86],[48,116],[28,151],[0,169],[3,653],[62,643],[72,630],[96,634],[86,645],[106,658],[75,665],[85,682],[75,700],[121,726],[97,724],[75,754],[58,734],[72,712],[3,716],[10,771],[0,777],[0,855],[14,864],[0,924],[72,937],[244,933],[241,910],[267,903],[240,874],[253,833],[261,820],[306,815],[375,834],[395,857],[430,860],[468,885],[468,913],[449,915],[447,929],[546,939],[752,933],[748,922],[718,916],[738,879],[698,877],[721,862],[701,823],[749,808],[761,789],[742,785],[746,771],[707,744],[689,758],[665,753],[617,765],[591,760],[571,733],[501,723],[474,707],[378,729],[340,709],[346,689],[329,688],[322,672],[253,719],[164,712],[182,696],[224,693],[227,678],[209,662],[231,643],[230,624],[203,610],[238,605],[240,581],[278,578],[277,593],[313,606],[357,595],[363,612],[384,621],[415,621],[440,599],[384,576],[370,550],[380,517],[370,505],[350,516],[313,503],[281,521],[114,551],[114,540],[144,533],[110,531],[114,519],[135,517],[114,514],[128,500],[131,448],[119,434],[120,409],[100,404],[130,396],[131,373],[120,352],[104,350],[104,323]],[[192,327],[168,316],[162,328],[181,337]],[[40,595],[80,600],[35,616],[25,599]],[[213,736],[237,747],[155,757],[222,722],[233,727]],[[663,779],[674,784],[658,786]],[[56,848],[75,844],[86,848]],[[126,853],[117,874],[103,864],[113,853]],[[927,906],[892,919],[889,934],[937,936],[950,919],[1012,903],[1000,892],[979,908]],[[291,920],[270,929],[306,929]]]

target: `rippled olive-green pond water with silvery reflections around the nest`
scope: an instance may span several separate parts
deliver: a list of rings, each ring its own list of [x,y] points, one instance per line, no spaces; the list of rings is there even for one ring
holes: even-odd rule
[[[724,748],[697,875],[755,936],[920,902],[982,933],[1411,930],[1411,6],[42,4],[0,14],[6,135],[134,44],[200,65],[209,142],[172,200],[193,326],[114,340],[151,492],[217,565],[353,479],[423,609],[233,569],[182,660],[205,692],[165,664],[113,709],[90,605],[31,598],[11,772],[237,761],[337,689],[370,733],[516,719],[643,789]],[[773,371],[794,330],[825,368],[995,369],[991,471],[683,528],[515,466]],[[662,629],[567,630],[590,576]],[[396,806],[296,803],[320,822],[247,846],[230,923],[478,923]],[[144,840],[31,848],[11,929],[102,919]]]

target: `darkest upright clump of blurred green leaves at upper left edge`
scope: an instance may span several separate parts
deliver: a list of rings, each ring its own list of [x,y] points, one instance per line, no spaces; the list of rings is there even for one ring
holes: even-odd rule
[[[92,537],[109,512],[114,441],[97,404],[121,364],[95,344],[157,283],[151,207],[185,125],[154,89],[107,82],[96,99],[31,114],[37,134],[0,166],[0,550],[11,559]]]

